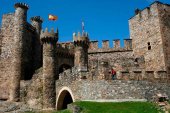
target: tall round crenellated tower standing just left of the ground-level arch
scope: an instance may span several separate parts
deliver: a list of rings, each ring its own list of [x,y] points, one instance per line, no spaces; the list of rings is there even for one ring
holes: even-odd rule
[[[43,109],[55,108],[56,43],[58,32],[54,30],[41,33],[43,43]]]

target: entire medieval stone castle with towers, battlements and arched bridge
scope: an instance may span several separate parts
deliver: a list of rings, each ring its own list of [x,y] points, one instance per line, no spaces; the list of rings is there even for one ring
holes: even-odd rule
[[[0,28],[0,100],[34,109],[65,109],[75,101],[144,101],[170,96],[170,5],[154,2],[129,19],[130,39],[91,41],[73,33],[58,43],[59,31],[42,30],[40,16],[27,22],[28,5],[15,4]],[[117,79],[111,80],[111,68]]]

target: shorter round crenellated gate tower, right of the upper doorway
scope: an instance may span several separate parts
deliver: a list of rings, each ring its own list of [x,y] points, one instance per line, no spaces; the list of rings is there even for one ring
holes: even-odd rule
[[[73,34],[74,46],[75,46],[75,58],[74,58],[74,66],[78,67],[79,71],[87,71],[88,70],[88,48],[89,48],[89,38],[88,34],[78,33]]]

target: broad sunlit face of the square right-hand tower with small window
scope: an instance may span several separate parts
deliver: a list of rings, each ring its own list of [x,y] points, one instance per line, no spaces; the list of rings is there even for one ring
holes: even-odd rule
[[[160,6],[164,5],[155,2],[142,11],[136,11],[136,15],[129,20],[133,52],[136,58],[144,56],[146,71],[166,71]]]

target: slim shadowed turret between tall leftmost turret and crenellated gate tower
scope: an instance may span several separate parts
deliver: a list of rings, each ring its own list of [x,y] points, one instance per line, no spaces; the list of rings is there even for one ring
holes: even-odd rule
[[[42,18],[40,16],[35,16],[31,18],[31,24],[36,29],[36,35],[33,38],[33,60],[34,60],[34,70],[38,69],[42,65],[42,46],[40,43],[40,32],[42,29]]]

